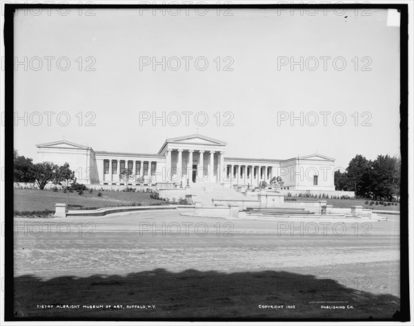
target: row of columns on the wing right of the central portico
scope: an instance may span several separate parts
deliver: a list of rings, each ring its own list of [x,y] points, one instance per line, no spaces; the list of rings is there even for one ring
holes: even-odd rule
[[[227,165],[230,167],[230,173],[227,174],[227,179],[230,179],[231,183],[237,185],[259,185],[261,181],[270,181],[273,178],[273,167],[262,165]],[[236,167],[236,170],[235,170]],[[264,167],[264,175],[262,168]],[[243,176],[242,176],[243,168]],[[249,170],[249,176],[247,176],[247,169]],[[264,176],[264,177],[263,177]]]

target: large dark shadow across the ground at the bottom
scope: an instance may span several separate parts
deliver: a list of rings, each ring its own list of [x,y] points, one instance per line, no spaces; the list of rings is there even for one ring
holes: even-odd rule
[[[14,318],[22,320],[393,320],[399,309],[400,298],[391,294],[290,272],[154,269],[126,276],[14,278]]]

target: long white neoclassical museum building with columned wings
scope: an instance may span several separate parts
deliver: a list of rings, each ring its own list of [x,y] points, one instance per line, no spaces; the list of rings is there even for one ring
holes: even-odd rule
[[[125,185],[120,174],[128,169],[128,185],[224,183],[250,185],[281,176],[282,190],[335,190],[334,162],[328,156],[311,154],[291,159],[228,157],[227,143],[193,134],[166,139],[157,154],[93,150],[61,140],[37,146],[37,162],[68,162],[77,181],[87,185]]]

